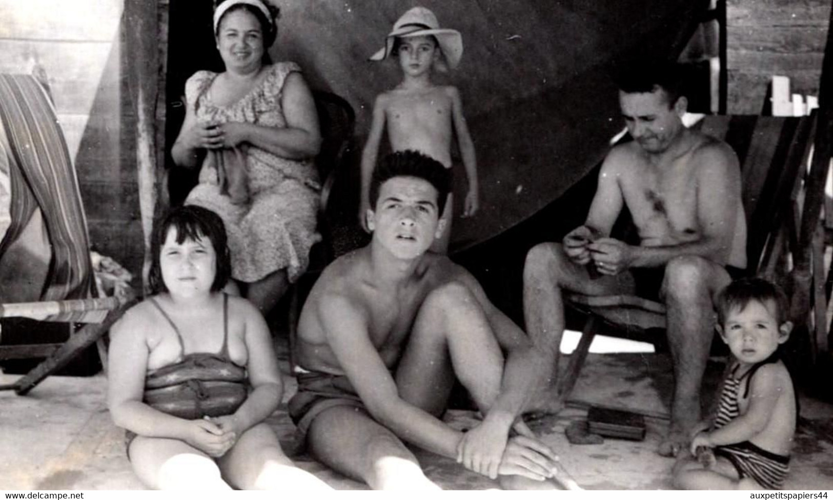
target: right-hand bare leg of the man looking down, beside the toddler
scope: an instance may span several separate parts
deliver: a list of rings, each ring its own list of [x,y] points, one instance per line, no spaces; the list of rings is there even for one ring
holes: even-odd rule
[[[662,289],[674,395],[671,427],[657,450],[663,456],[685,452],[691,429],[701,420],[701,384],[714,337],[714,299],[730,281],[725,269],[701,257],[677,257],[666,265]]]

